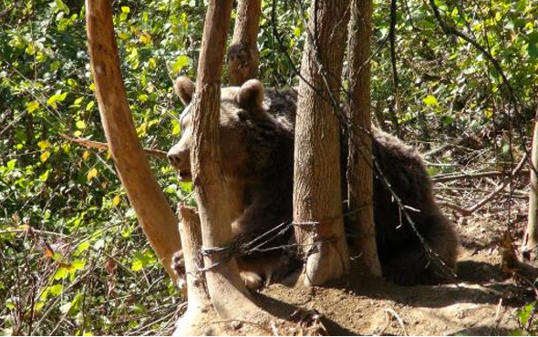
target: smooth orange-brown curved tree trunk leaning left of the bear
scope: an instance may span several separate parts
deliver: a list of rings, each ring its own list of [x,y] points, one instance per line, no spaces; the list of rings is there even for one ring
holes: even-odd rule
[[[178,220],[150,170],[134,128],[119,68],[111,2],[87,0],[86,20],[89,58],[110,153],[146,237],[175,279],[171,256],[181,249]]]

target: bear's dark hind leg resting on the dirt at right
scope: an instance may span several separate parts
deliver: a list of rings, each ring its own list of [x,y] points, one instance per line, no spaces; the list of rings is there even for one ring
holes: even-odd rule
[[[458,253],[458,237],[452,223],[440,212],[422,219],[421,235],[435,255],[429,254],[419,240],[385,260],[383,274],[401,285],[427,284],[452,277]]]

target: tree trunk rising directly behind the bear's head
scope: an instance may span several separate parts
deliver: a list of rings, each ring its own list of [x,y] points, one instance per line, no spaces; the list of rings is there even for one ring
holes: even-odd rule
[[[258,26],[262,0],[239,0],[233,39],[228,51],[230,86],[241,86],[258,72]]]

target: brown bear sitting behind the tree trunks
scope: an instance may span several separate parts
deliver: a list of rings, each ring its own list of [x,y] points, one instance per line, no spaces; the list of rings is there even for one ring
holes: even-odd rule
[[[186,107],[180,117],[181,139],[168,157],[180,179],[191,179],[190,104],[194,84],[180,77],[174,90]],[[285,245],[293,232],[285,224],[291,223],[293,214],[296,103],[294,90],[265,90],[256,79],[242,87],[222,88],[222,166],[237,209],[233,234],[266,241],[263,252],[238,259],[249,288],[261,286],[263,280],[267,282],[294,265],[283,250],[271,248]],[[446,268],[455,267],[458,237],[435,202],[419,154],[376,128],[372,130],[372,152],[378,163],[374,217],[384,276],[399,284],[429,283],[447,277]],[[398,207],[390,189],[404,209]],[[274,232],[263,236],[269,230]]]

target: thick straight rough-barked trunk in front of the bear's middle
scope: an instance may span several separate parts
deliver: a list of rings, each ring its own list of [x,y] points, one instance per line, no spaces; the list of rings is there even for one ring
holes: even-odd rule
[[[314,1],[309,14],[295,125],[294,222],[305,284],[316,285],[346,275],[349,265],[336,117],[349,1]]]

